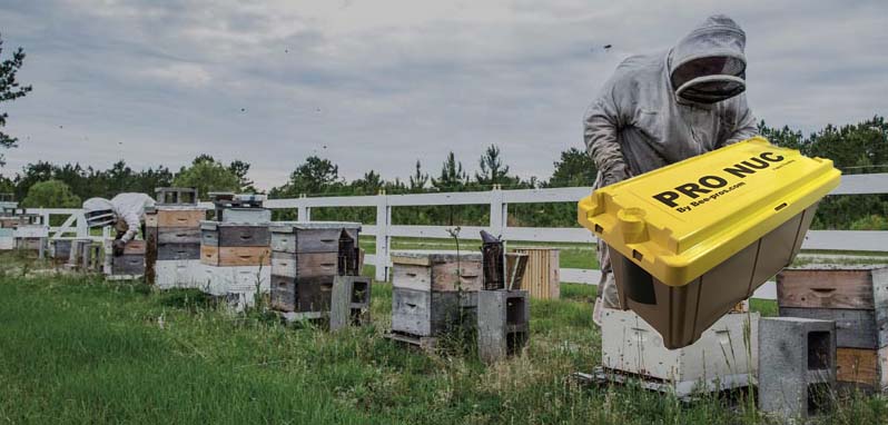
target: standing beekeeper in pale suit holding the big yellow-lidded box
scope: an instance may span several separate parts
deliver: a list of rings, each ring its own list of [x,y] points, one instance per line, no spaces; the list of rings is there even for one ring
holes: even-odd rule
[[[746,33],[717,14],[672,49],[625,59],[585,113],[586,152],[595,161],[595,188],[756,135],[747,106]],[[595,322],[619,308],[610,255],[599,241],[601,283]]]

